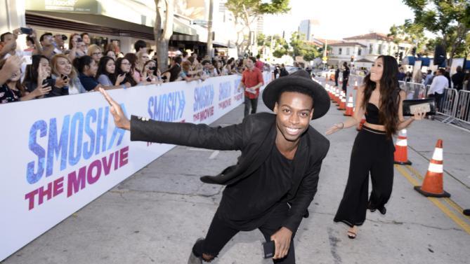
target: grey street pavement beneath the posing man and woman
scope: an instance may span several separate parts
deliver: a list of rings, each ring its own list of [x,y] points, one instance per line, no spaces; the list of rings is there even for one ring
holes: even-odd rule
[[[351,92],[353,90],[351,89]],[[259,111],[268,111],[259,100]],[[243,105],[211,125],[240,123]],[[334,104],[311,125],[325,132],[344,120]],[[387,214],[367,212],[356,239],[334,223],[346,185],[357,132],[342,130],[320,172],[318,192],[295,236],[296,263],[470,263],[470,133],[437,120],[408,129],[411,166],[396,165]],[[450,198],[428,198],[421,185],[437,139],[443,139],[444,189]],[[209,228],[223,186],[199,178],[236,162],[237,151],[177,146],[126,181],[44,233],[1,263],[187,263],[198,237]],[[213,263],[272,263],[263,260],[259,230],[240,232]]]

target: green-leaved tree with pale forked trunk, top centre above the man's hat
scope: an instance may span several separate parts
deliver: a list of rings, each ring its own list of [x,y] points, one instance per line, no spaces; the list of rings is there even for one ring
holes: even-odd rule
[[[235,18],[235,27],[237,27],[235,46],[239,55],[252,43],[253,36],[250,34],[252,24],[260,15],[286,13],[290,10],[289,0],[271,0],[270,3],[262,3],[261,0],[228,0],[226,7]],[[244,34],[246,29],[249,32],[248,38]]]

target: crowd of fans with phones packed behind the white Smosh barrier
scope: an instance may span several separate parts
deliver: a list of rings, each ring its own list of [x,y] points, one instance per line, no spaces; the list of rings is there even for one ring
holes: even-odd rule
[[[115,43],[104,49],[91,43],[87,33],[67,37],[46,32],[38,39],[34,29],[26,29],[0,35],[0,104],[93,92],[99,88],[204,81],[215,76],[241,75],[247,69],[247,58],[200,57],[185,50],[172,57],[171,64],[160,72],[157,56],[142,40],[133,44],[135,53],[124,54]],[[17,49],[20,34],[27,34],[25,50]],[[259,58],[255,66],[261,71],[269,67]]]

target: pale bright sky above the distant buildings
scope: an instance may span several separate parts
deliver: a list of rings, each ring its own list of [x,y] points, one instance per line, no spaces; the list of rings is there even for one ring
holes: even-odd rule
[[[388,34],[393,24],[401,25],[413,19],[412,10],[401,0],[290,0],[291,11],[285,15],[266,15],[265,34],[290,34],[297,30],[301,20],[320,22],[318,39],[341,40],[378,32]],[[287,33],[291,32],[291,33]]]

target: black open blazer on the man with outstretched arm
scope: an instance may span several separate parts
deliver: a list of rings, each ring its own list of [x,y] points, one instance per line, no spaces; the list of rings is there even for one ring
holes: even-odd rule
[[[276,116],[256,113],[244,118],[241,124],[227,127],[209,127],[191,123],[168,123],[147,118],[131,117],[131,141],[150,141],[221,151],[240,150],[236,165],[216,176],[202,176],[204,183],[230,185],[249,176],[268,158],[275,146]],[[292,188],[288,200],[292,204],[289,216],[282,226],[295,232],[303,214],[317,192],[318,174],[322,160],[327,155],[329,141],[313,127],[301,135],[294,156]]]

